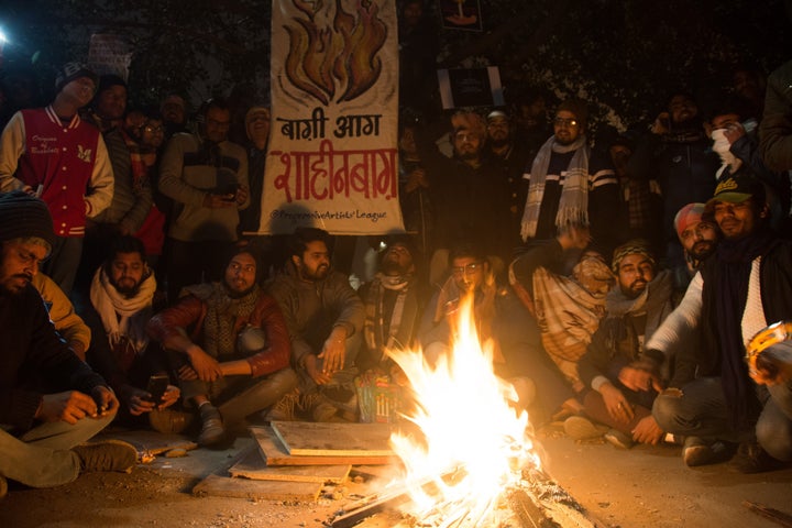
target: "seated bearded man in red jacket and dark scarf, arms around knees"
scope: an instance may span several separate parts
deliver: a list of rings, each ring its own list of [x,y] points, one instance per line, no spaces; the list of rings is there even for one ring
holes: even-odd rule
[[[198,444],[223,444],[246,418],[272,406],[297,383],[284,316],[261,290],[258,262],[238,250],[219,283],[189,286],[176,305],[148,322],[170,351],[185,404],[198,409]]]

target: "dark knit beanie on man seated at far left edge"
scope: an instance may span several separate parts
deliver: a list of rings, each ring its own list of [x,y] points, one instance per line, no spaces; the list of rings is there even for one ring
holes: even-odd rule
[[[0,194],[0,242],[28,237],[44,239],[50,248],[55,242],[46,204],[21,190]]]

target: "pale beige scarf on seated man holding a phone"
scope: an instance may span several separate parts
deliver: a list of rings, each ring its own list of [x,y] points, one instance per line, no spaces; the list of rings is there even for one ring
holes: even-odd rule
[[[102,321],[110,348],[120,354],[123,369],[132,364],[136,354],[148,344],[145,326],[152,317],[152,299],[156,279],[151,274],[143,279],[134,297],[121,295],[110,283],[105,266],[97,270],[90,287],[90,300]]]

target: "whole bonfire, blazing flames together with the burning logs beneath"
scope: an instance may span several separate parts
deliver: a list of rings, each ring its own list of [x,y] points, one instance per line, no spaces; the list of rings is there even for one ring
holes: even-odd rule
[[[413,527],[594,528],[597,524],[542,472],[528,416],[515,411],[514,387],[493,373],[492,348],[480,343],[470,304],[459,314],[452,352],[436,364],[420,351],[391,353],[413,389],[414,410],[405,418],[420,433],[391,437],[404,477],[387,495],[353,506],[332,527],[350,527],[399,506],[405,526]]]

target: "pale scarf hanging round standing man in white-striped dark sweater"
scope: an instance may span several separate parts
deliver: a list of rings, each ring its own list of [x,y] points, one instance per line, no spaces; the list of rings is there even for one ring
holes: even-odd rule
[[[588,224],[590,148],[588,145],[586,145],[586,136],[585,134],[581,134],[581,136],[570,145],[557,143],[556,136],[552,136],[539,148],[531,165],[528,197],[526,198],[526,207],[520,223],[520,235],[524,241],[536,237],[537,226],[539,224],[539,211],[541,209],[542,198],[544,197],[547,172],[552,154],[554,152],[565,154],[572,151],[574,151],[574,154],[572,155],[572,160],[570,160],[566,174],[564,175],[561,198],[559,199],[559,210],[558,215],[556,215],[556,227],[562,229],[570,224]]]

